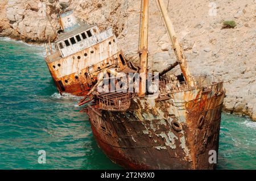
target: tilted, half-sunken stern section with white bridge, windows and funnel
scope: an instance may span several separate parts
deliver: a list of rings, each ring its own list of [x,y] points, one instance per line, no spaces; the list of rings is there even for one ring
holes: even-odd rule
[[[86,95],[102,69],[125,68],[112,28],[101,31],[96,24],[79,22],[73,11],[60,14],[59,23],[55,50],[50,42],[46,45],[46,63],[60,94]]]

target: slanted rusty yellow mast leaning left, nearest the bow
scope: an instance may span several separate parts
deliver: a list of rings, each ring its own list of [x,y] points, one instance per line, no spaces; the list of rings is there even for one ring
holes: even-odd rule
[[[175,30],[174,30],[174,25],[172,24],[172,21],[168,15],[166,6],[164,5],[163,0],[158,0],[158,3],[160,6],[162,15],[163,15],[164,24],[166,24],[168,36],[169,36],[172,46],[174,48],[177,62],[179,62],[179,64],[180,64],[180,69],[183,73],[184,79],[189,87],[194,87],[195,82],[193,81],[193,77],[192,77],[190,71],[188,70],[187,60],[185,58],[184,50],[181,47],[181,44],[179,43],[179,41],[177,40],[177,36],[176,36]]]

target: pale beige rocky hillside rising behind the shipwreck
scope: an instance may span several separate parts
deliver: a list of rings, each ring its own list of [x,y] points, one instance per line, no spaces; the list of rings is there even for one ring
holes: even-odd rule
[[[73,9],[89,24],[113,27],[126,58],[138,61],[138,0],[2,1],[0,36],[35,43],[46,41],[48,36],[53,40],[59,28],[58,12]],[[150,0],[149,66],[160,70],[174,62],[175,55],[155,2]],[[165,2],[192,73],[222,79],[227,90],[224,110],[256,120],[255,0]],[[222,29],[224,20],[235,20],[237,27]]]

